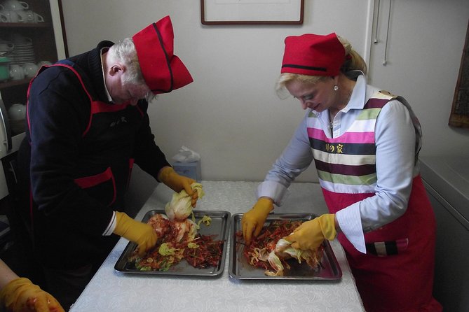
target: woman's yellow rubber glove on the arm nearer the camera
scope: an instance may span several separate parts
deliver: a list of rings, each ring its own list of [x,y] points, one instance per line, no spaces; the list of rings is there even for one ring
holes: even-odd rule
[[[332,241],[337,236],[335,228],[335,215],[326,213],[304,222],[289,236],[284,237],[292,243],[293,248],[301,250],[315,250],[324,239]]]

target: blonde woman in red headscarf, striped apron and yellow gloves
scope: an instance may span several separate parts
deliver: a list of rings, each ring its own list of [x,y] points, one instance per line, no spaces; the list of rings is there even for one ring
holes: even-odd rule
[[[367,85],[365,73],[336,34],[285,39],[277,90],[306,115],[243,215],[243,236],[259,234],[314,161],[329,213],[285,239],[314,250],[337,237],[367,311],[442,311],[432,296],[435,217],[419,173],[421,127],[404,98]]]

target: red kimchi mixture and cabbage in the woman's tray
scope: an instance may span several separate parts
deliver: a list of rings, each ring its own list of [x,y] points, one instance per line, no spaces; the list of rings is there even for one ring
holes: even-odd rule
[[[275,220],[264,226],[261,233],[252,238],[249,246],[243,245],[243,255],[247,263],[266,270],[265,274],[268,276],[283,276],[284,269],[290,269],[290,261],[301,263],[301,260],[305,260],[311,268],[317,268],[322,259],[322,246],[313,252],[297,250],[300,253],[299,256],[294,256],[296,260],[292,260],[290,255],[285,257],[284,253],[276,253],[278,241],[290,235],[301,223],[303,222],[299,220]],[[236,236],[242,239],[242,231],[238,231]]]

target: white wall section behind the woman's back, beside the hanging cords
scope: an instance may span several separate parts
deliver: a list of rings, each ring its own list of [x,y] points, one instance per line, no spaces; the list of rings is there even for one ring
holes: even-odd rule
[[[379,42],[371,46],[369,83],[404,96],[412,105],[423,127],[421,155],[465,155],[469,165],[469,129],[448,126],[469,1],[393,0],[386,66],[389,0],[381,0],[380,7]]]

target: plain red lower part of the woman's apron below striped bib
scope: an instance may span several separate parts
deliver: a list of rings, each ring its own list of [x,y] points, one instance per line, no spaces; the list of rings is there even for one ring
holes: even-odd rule
[[[331,213],[374,195],[322,192]],[[432,296],[435,227],[426,190],[416,176],[405,214],[365,234],[367,254],[338,235],[366,311],[442,311]]]

